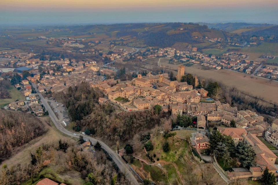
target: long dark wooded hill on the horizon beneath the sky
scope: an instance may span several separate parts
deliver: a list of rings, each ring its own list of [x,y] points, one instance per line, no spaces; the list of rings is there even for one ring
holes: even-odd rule
[[[171,47],[176,42],[202,43],[200,38],[224,38],[220,30],[195,23],[130,23],[112,25],[70,26],[72,35],[105,33],[116,38],[136,37],[147,46]],[[195,39],[197,37],[198,39]]]

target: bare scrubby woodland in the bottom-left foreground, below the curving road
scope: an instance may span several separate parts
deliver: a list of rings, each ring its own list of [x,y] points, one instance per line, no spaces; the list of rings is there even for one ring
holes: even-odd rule
[[[59,184],[74,185],[67,179],[58,178],[52,172],[38,175],[44,168],[55,170],[55,166],[59,166],[59,174],[79,172],[78,176],[80,175],[86,185],[130,184],[125,176],[115,169],[111,158],[103,151],[96,150],[91,153],[82,151],[75,145],[76,143],[67,140],[43,143],[36,152],[30,153],[29,163],[15,166],[4,164],[0,173],[0,184],[21,184],[27,180],[34,183],[36,180],[50,177]]]

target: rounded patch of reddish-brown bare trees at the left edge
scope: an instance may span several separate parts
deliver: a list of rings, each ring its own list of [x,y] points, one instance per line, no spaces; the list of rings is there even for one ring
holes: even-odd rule
[[[47,130],[43,123],[32,114],[21,111],[0,110],[0,162],[20,147]]]

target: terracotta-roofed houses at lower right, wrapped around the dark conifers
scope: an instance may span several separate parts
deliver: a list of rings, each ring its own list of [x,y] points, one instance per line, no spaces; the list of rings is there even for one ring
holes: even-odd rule
[[[246,168],[233,168],[232,172],[226,172],[230,179],[250,177],[256,180],[261,177],[266,167],[270,172],[275,173],[276,176],[278,175],[275,165],[277,156],[258,138],[259,136],[265,136],[269,143],[278,148],[278,119],[274,120],[270,126],[269,123],[264,121],[264,117],[259,116],[256,112],[237,110],[236,107],[231,107],[229,104],[221,104],[220,102],[215,103],[215,110],[207,113],[203,112],[197,116],[197,119],[198,121],[202,120],[202,123],[200,123],[202,125],[212,121],[221,122],[227,126],[217,128],[222,135],[230,136],[235,143],[247,143],[254,149],[256,157],[253,166],[249,170]],[[230,125],[232,120],[235,121],[235,127]],[[197,150],[209,148],[209,139],[201,133],[195,134],[192,142],[193,147]]]

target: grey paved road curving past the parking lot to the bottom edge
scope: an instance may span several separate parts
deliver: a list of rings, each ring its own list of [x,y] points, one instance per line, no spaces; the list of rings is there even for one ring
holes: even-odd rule
[[[56,115],[54,114],[54,112],[50,108],[49,104],[47,103],[47,100],[41,95],[41,93],[37,89],[36,84],[32,84],[32,86],[35,88],[35,90],[37,91],[38,95],[40,96],[41,102],[43,103],[45,109],[48,111],[49,116],[50,116],[51,120],[53,121],[54,125],[57,127],[57,129],[59,129],[61,132],[63,132],[64,134],[66,134],[68,136],[79,138],[78,135],[74,136],[73,135],[74,132],[68,131],[62,125],[62,121],[63,120],[58,120],[57,119]],[[105,151],[107,151],[107,153],[109,153],[109,155],[111,156],[111,158],[113,159],[115,164],[117,164],[117,166],[122,171],[122,173],[124,173],[126,175],[127,179],[130,180],[131,184],[139,185],[139,183],[137,182],[136,178],[133,176],[132,172],[129,170],[130,168],[124,162],[122,162],[122,160],[120,159],[119,155],[115,151],[113,151],[109,146],[107,146],[101,140],[98,140],[96,138],[92,138],[90,136],[84,135],[84,139],[90,140],[92,143],[96,143],[98,141],[102,145],[102,148]]]

